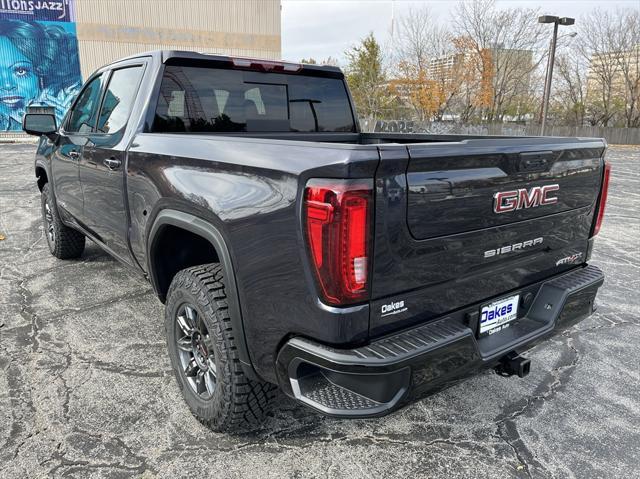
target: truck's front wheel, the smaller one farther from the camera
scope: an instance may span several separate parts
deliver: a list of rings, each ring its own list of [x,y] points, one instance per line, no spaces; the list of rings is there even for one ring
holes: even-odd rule
[[[79,258],[85,246],[85,236],[62,223],[53,190],[49,183],[42,188],[42,221],[49,251],[59,259]]]

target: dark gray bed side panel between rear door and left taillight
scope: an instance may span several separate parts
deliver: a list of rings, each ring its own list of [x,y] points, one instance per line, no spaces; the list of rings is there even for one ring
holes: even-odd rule
[[[376,147],[141,134],[128,161],[136,259],[146,265],[147,236],[162,209],[190,212],[215,226],[231,255],[247,344],[261,377],[276,380],[275,355],[290,335],[335,344],[366,340],[368,305],[329,308],[318,299],[300,198],[309,177],[373,177]]]

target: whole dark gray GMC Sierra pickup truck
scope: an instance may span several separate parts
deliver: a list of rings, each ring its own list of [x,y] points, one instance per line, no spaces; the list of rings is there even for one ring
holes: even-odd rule
[[[361,133],[338,68],[154,51],[23,127],[51,252],[89,238],[148,278],[216,430],[255,427],[277,387],[368,417],[524,376],[604,280],[603,140]]]

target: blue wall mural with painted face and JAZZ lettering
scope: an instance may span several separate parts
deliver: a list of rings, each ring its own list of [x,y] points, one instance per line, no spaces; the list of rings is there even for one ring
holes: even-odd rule
[[[0,0],[0,131],[21,130],[28,106],[59,124],[81,84],[73,0]]]

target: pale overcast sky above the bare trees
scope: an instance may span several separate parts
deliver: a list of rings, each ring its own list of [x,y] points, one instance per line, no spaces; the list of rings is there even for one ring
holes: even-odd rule
[[[393,4],[393,6],[392,6]],[[343,61],[343,52],[373,32],[382,43],[395,18],[409,9],[428,6],[439,22],[449,23],[455,1],[447,0],[282,0],[282,58]],[[499,0],[504,8],[540,8],[541,13],[580,18],[590,10],[618,6],[640,8],[640,0]],[[551,29],[551,27],[550,27]]]

